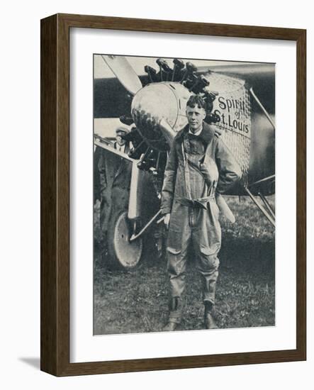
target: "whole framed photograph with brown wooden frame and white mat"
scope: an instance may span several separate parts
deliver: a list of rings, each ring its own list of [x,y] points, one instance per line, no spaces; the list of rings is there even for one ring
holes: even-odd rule
[[[41,21],[43,371],[306,359],[305,54],[305,30]]]

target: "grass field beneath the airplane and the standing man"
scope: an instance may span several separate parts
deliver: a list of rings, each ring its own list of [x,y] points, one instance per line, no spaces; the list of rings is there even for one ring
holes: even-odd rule
[[[226,197],[234,225],[222,219],[215,317],[219,328],[275,325],[274,228],[250,199]],[[274,206],[274,197],[270,197]],[[99,239],[95,208],[95,239]],[[112,271],[94,258],[94,334],[158,332],[167,321],[166,260],[146,253],[136,269]],[[184,319],[179,330],[203,329],[201,280],[193,259],[187,268]]]

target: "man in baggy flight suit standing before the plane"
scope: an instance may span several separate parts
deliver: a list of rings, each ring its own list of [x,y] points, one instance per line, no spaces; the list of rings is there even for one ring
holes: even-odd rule
[[[211,313],[218,277],[221,230],[216,191],[223,194],[241,177],[228,147],[204,122],[206,103],[192,95],[186,104],[188,124],[174,138],[162,186],[162,214],[169,228],[167,271],[170,279],[169,319],[163,330],[181,323],[181,297],[186,286],[186,261],[193,245],[203,281],[204,325],[217,328]]]

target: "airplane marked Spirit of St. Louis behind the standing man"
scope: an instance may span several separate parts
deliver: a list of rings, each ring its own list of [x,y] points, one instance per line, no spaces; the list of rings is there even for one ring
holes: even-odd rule
[[[145,233],[162,221],[159,201],[167,153],[187,123],[191,94],[203,96],[208,107],[205,121],[215,125],[242,169],[242,179],[227,194],[249,196],[275,225],[267,200],[275,191],[274,64],[201,62],[203,66],[196,67],[191,60],[174,58],[169,66],[158,58],[157,69],[144,65],[145,74],[138,75],[130,57],[99,55],[100,59],[113,77],[94,79],[94,145],[132,165],[128,211],[113,216],[108,234],[111,264],[135,267]],[[133,145],[128,155],[113,148],[113,130],[119,123],[130,129],[125,136]],[[218,194],[216,201],[223,216],[234,222],[223,196]]]

